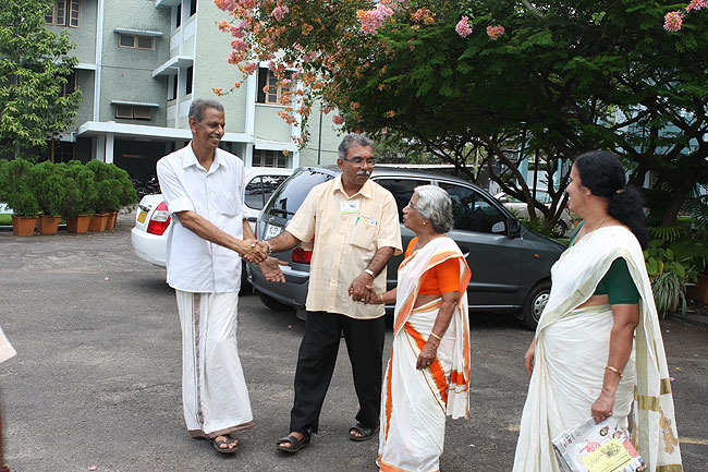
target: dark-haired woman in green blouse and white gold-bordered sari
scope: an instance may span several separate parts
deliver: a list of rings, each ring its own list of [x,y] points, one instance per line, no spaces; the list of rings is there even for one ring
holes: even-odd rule
[[[642,198],[612,153],[576,158],[569,205],[584,222],[551,270],[550,298],[525,355],[530,384],[514,472],[558,472],[551,440],[614,417],[650,472],[683,471],[659,319],[642,247]]]

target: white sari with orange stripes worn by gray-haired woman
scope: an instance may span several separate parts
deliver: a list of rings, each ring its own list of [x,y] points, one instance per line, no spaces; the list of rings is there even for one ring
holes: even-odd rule
[[[430,336],[441,299],[415,310],[423,275],[436,265],[460,262],[460,301],[438,347],[435,362],[415,368]],[[393,352],[383,380],[380,471],[439,470],[445,416],[468,417],[469,326],[467,283],[472,273],[460,247],[450,238],[437,238],[406,257],[399,267]]]

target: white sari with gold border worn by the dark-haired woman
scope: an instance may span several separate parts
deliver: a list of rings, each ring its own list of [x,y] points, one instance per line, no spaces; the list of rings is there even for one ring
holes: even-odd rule
[[[551,269],[553,286],[536,329],[514,472],[560,471],[551,439],[590,416],[602,388],[614,318],[609,305],[577,306],[593,295],[618,257],[626,261],[640,302],[613,416],[627,425],[633,410],[632,441],[649,472],[683,471],[667,358],[642,247],[626,228],[612,226],[585,235]]]

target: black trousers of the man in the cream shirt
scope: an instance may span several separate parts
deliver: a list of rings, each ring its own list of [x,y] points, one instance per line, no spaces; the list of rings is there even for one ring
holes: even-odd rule
[[[305,335],[297,354],[290,431],[317,433],[342,331],[359,400],[356,421],[368,427],[379,424],[384,317],[354,319],[335,313],[307,312]]]

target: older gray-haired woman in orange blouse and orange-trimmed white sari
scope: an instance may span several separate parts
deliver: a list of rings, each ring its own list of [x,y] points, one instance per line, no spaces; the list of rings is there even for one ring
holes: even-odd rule
[[[472,273],[455,242],[452,202],[434,185],[415,189],[403,223],[416,233],[399,268],[399,283],[369,303],[395,301],[393,352],[381,398],[380,471],[434,472],[445,416],[468,415]]]

